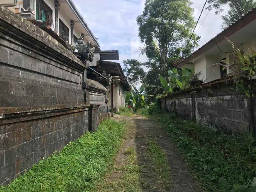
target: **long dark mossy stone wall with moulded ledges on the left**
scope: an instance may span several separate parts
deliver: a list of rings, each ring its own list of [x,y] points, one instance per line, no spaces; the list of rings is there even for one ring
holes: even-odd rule
[[[0,7],[0,184],[107,118],[107,90],[39,27]],[[91,101],[90,101],[91,100]]]

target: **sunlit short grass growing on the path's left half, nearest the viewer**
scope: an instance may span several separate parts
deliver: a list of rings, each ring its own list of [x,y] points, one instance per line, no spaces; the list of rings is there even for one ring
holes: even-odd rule
[[[142,191],[139,181],[140,167],[137,165],[137,154],[134,147],[129,147],[125,152],[125,155],[127,158],[127,164],[121,167],[114,167],[111,170],[111,173],[121,172],[122,176],[119,179],[115,178],[113,181],[105,179],[98,185],[97,191]]]

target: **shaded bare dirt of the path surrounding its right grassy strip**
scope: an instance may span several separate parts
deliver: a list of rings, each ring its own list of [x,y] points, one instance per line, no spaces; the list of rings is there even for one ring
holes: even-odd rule
[[[152,139],[154,139],[166,153],[170,173],[172,174],[170,181],[170,183],[172,183],[172,189],[170,189],[170,191],[197,191],[195,189],[194,180],[188,171],[186,161],[182,158],[181,153],[178,152],[178,149],[171,142],[166,130],[161,128],[157,121],[152,118],[135,116],[130,118],[129,121],[134,121],[137,128],[135,145],[138,154],[138,164],[143,167],[142,174],[140,174],[141,181],[148,181],[145,187],[142,186],[143,191],[164,191],[163,186],[156,182],[156,178],[151,177],[151,175],[143,174],[147,172],[147,170],[144,170],[148,168],[145,166],[148,163],[145,154],[148,144]]]

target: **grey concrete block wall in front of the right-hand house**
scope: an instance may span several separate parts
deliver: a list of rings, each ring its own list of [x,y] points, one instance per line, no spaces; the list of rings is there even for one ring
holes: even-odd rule
[[[212,128],[248,132],[255,127],[255,102],[238,92],[232,78],[161,98],[162,109]]]

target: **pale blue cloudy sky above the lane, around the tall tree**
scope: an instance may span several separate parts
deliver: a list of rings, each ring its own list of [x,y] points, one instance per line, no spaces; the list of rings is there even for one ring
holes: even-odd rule
[[[118,50],[119,62],[138,59],[139,47],[143,47],[138,37],[136,18],[142,14],[145,0],[73,0],[94,36],[98,39],[101,50]],[[195,21],[199,18],[204,0],[191,0]],[[219,15],[204,10],[196,28],[196,34],[202,36],[199,45],[215,37],[222,31],[222,18],[227,9]],[[203,23],[203,24],[202,24]],[[202,24],[202,25],[201,25]],[[147,61],[145,55],[139,61]]]

